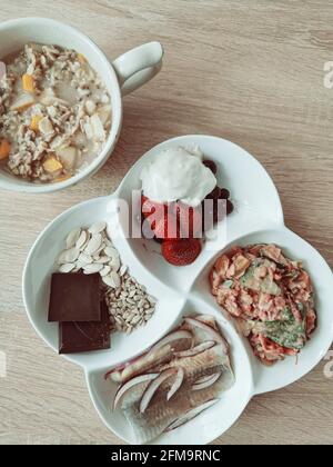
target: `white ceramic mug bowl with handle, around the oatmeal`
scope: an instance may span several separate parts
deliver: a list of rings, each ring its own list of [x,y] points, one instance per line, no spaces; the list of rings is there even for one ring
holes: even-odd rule
[[[87,57],[102,77],[111,96],[112,126],[102,151],[84,169],[59,183],[32,183],[0,170],[0,188],[24,192],[51,192],[78,183],[95,173],[108,160],[122,126],[122,96],[139,88],[161,69],[163,50],[159,42],[140,46],[112,63],[85,34],[62,22],[47,18],[21,18],[0,23],[0,59],[20,50],[28,42],[57,44]]]

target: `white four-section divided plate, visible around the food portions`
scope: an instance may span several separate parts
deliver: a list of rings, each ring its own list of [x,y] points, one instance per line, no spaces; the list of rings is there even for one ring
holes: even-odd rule
[[[208,159],[219,167],[219,186],[231,191],[234,212],[219,227],[218,239],[208,242],[198,260],[182,268],[164,261],[158,244],[142,239],[125,239],[124,219],[118,212],[119,199],[130,200],[132,190],[140,189],[139,175],[148,160],[170,146],[199,145]],[[132,434],[119,411],[111,411],[115,387],[104,381],[110,368],[133,358],[171,330],[184,314],[208,312],[219,319],[232,349],[235,385],[222,395],[214,410],[206,410],[189,424],[155,440],[159,444],[205,444],[224,433],[241,415],[250,398],[275,390],[301,378],[325,355],[333,339],[333,275],[324,259],[306,241],[291,232],[283,222],[278,191],[263,167],[245,150],[230,141],[209,136],[185,136],[165,141],[144,155],[128,172],[115,193],[74,206],[54,219],[39,236],[23,271],[23,300],[28,316],[39,335],[58,351],[58,326],[47,320],[50,277],[54,259],[64,248],[64,238],[73,228],[107,220],[124,264],[141,284],[159,300],[148,325],[130,336],[112,337],[110,350],[65,356],[85,371],[94,406],[119,437],[133,443]],[[276,242],[291,258],[303,259],[316,291],[319,327],[312,340],[295,358],[286,358],[273,367],[262,366],[246,341],[225,319],[211,296],[208,272],[214,259],[231,245]]]

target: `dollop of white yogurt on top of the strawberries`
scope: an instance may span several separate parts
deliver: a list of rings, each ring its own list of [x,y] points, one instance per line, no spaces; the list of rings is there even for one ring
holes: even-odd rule
[[[199,147],[162,151],[141,172],[143,195],[157,202],[182,201],[199,206],[216,186],[215,176],[202,159]]]

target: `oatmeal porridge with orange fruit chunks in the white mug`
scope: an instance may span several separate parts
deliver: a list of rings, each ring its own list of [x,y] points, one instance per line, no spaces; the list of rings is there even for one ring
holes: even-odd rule
[[[57,182],[87,167],[111,127],[110,96],[85,57],[29,43],[3,60],[0,165],[34,182]]]

